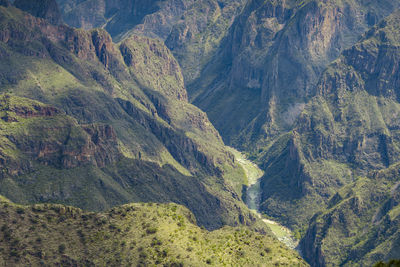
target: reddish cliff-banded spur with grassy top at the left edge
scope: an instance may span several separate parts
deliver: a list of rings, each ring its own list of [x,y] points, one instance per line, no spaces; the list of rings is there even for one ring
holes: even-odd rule
[[[33,172],[33,162],[102,168],[121,157],[109,125],[82,127],[54,107],[8,94],[2,95],[1,107],[3,178]]]

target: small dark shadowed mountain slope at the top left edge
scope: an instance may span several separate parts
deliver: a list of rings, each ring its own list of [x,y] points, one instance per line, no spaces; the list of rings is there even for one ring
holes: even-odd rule
[[[14,5],[35,17],[46,19],[52,24],[62,23],[61,13],[55,0],[16,0]]]

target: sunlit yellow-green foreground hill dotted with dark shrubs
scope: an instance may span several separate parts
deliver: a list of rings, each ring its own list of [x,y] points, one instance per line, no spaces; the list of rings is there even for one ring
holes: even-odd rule
[[[2,266],[307,266],[246,227],[208,232],[175,204],[129,204],[106,213],[0,200]]]

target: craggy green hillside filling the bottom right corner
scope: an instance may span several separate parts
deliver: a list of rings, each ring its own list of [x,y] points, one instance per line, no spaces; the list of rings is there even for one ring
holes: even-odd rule
[[[314,216],[302,240],[311,265],[372,266],[400,258],[399,181],[396,164],[341,189],[327,211]]]

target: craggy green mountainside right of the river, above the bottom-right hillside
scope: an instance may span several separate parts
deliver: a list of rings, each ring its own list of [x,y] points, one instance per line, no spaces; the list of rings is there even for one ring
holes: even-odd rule
[[[323,73],[293,130],[258,150],[265,170],[261,210],[295,232],[305,233],[340,188],[400,159],[397,75],[387,74],[398,45],[393,38],[376,41],[396,36],[398,16],[345,50]]]

